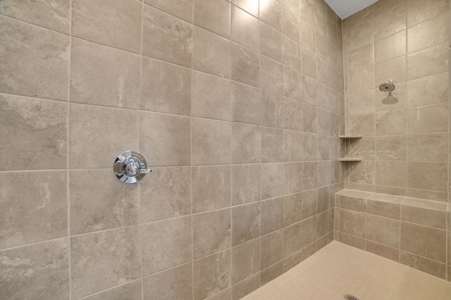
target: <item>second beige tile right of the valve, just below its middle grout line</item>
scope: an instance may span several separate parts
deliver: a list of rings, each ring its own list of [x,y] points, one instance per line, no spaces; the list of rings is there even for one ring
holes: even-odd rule
[[[192,167],[191,176],[193,213],[230,206],[230,166]]]

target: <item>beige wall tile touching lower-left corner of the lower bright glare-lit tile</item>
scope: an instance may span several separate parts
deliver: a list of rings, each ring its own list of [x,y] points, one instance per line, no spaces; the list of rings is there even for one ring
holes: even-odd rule
[[[197,26],[192,39],[192,68],[230,78],[230,41]]]

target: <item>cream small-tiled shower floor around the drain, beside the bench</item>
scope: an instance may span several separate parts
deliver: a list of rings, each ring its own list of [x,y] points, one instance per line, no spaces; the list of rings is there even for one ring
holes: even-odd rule
[[[245,300],[449,300],[451,282],[339,242],[331,242]]]

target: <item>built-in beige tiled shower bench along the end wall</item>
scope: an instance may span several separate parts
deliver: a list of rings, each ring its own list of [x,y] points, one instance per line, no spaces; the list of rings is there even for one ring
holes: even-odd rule
[[[447,279],[448,206],[345,189],[335,194],[335,233],[344,244]]]

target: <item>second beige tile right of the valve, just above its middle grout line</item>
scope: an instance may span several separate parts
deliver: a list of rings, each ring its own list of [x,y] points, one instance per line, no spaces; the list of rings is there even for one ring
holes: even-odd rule
[[[230,135],[230,123],[192,118],[192,164],[230,163]]]

